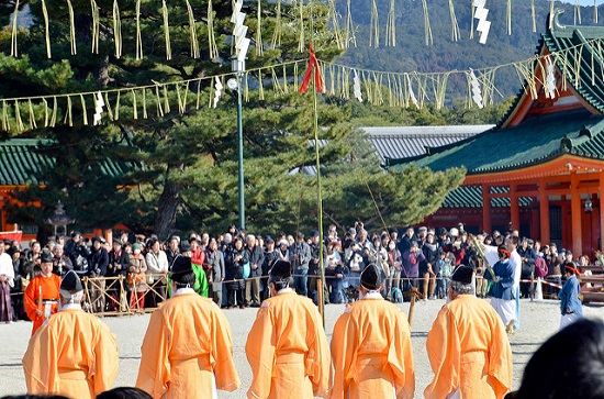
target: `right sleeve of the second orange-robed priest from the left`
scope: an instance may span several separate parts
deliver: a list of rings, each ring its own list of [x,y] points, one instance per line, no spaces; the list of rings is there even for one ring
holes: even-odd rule
[[[212,334],[212,368],[216,388],[233,391],[242,384],[233,363],[233,340],[231,328],[224,313],[216,307],[212,313],[214,331]]]

